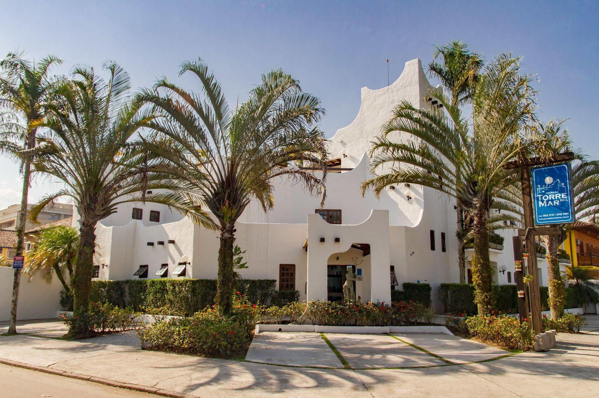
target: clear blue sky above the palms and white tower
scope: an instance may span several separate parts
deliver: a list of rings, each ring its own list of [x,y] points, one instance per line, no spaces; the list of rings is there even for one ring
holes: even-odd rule
[[[558,4],[559,3],[559,4]],[[134,87],[176,79],[183,60],[202,57],[229,102],[246,98],[262,72],[283,67],[319,96],[332,136],[360,106],[360,88],[387,85],[407,60],[431,60],[432,46],[461,39],[487,59],[524,56],[536,73],[541,119],[570,118],[576,144],[599,157],[599,2],[349,1],[2,1],[0,54],[14,48],[99,68],[113,59]],[[199,89],[192,79],[179,80]],[[20,201],[18,168],[0,159],[0,208]],[[57,189],[34,182],[30,202]]]

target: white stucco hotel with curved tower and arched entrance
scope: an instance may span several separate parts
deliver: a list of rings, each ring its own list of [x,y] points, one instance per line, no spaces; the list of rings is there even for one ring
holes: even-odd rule
[[[327,176],[323,210],[318,211],[320,198],[309,196],[301,184],[279,178],[273,211],[265,214],[255,203],[244,211],[236,226],[236,244],[246,250],[249,266],[241,270],[244,278],[277,279],[280,288],[299,290],[300,299],[334,300],[342,296],[345,267],[353,266],[362,271],[356,296],[385,302],[391,299],[391,288],[401,289],[402,282],[431,284],[434,302],[438,284],[459,282],[452,199],[408,184],[389,187],[380,199],[372,193],[363,197],[360,189],[371,176],[370,141],[400,101],[436,107],[425,101],[429,87],[422,63],[415,59],[406,62],[391,86],[362,88],[356,119],[330,139],[334,166]],[[395,139],[406,136],[398,133]],[[491,250],[499,284],[514,283],[513,232],[507,234],[503,250]],[[98,278],[216,278],[217,233],[193,225],[167,206],[119,206],[98,224],[96,235]],[[541,285],[547,285],[543,259],[539,265]],[[393,273],[398,282],[394,287]]]

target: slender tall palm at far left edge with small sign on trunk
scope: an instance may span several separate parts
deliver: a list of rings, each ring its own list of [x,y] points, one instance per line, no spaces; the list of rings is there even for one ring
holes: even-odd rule
[[[16,226],[16,256],[23,254],[25,243],[25,218],[29,184],[31,184],[31,163],[35,157],[37,127],[32,124],[44,116],[46,105],[52,99],[52,86],[56,80],[50,77],[53,65],[62,60],[49,55],[40,62],[23,58],[25,53],[8,53],[0,60],[0,153],[15,157],[23,173],[21,208]],[[14,269],[13,297],[11,301],[8,334],[17,332],[17,303],[21,269]]]

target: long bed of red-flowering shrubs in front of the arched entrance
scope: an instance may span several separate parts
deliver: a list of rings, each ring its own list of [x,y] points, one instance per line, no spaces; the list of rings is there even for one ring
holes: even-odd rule
[[[262,308],[261,323],[280,323],[289,317],[291,323],[329,326],[401,326],[418,322],[430,323],[432,309],[412,301],[362,303],[359,301],[295,302],[285,307]]]

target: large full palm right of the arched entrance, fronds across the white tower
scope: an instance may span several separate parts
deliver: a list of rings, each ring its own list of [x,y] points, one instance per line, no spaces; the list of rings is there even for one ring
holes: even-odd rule
[[[441,89],[433,89],[429,95],[443,104],[446,113],[401,102],[373,142],[373,170],[388,169],[362,184],[363,192],[372,189],[377,196],[389,185],[410,183],[456,198],[471,224],[471,265],[480,314],[491,311],[492,305],[488,224],[498,218],[491,217],[489,209],[518,212],[504,199],[513,196],[518,176],[503,166],[519,154],[522,130],[534,120],[531,77],[520,74],[519,61],[502,54],[485,67],[473,95],[471,124]],[[407,133],[416,141],[389,138],[397,132]]]

